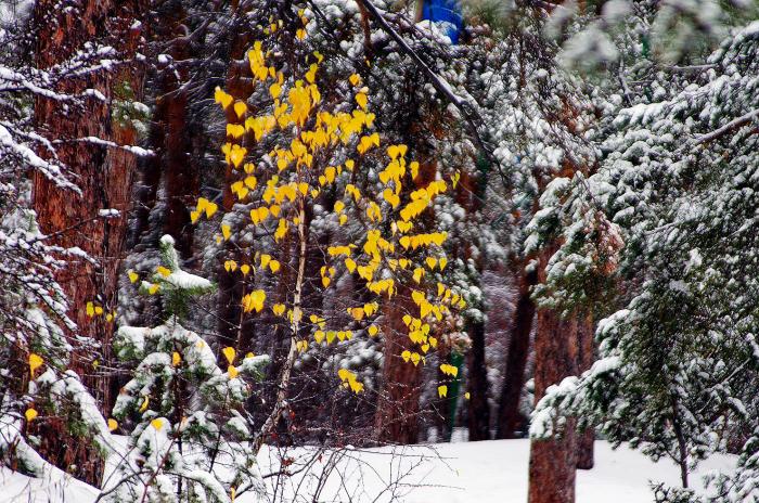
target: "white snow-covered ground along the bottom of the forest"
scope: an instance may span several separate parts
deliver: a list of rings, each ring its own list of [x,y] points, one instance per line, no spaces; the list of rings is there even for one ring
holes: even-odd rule
[[[285,453],[304,459],[303,449]],[[439,443],[426,447],[383,448],[371,451],[348,450],[339,453],[313,453],[311,468],[293,477],[266,478],[269,496],[280,493],[275,501],[312,501],[320,474],[327,466],[334,468],[320,492],[318,501],[363,502],[403,501],[409,503],[502,503],[527,500],[527,440],[493,440],[484,442]],[[272,474],[281,452],[261,452],[262,474]],[[693,474],[692,485],[699,486],[700,477],[711,470],[730,470],[734,459],[715,456],[704,462]],[[295,470],[298,463],[288,468]],[[652,501],[648,481],[678,485],[679,472],[667,461],[653,463],[641,453],[626,447],[612,450],[609,444],[595,444],[595,468],[580,470],[577,476],[577,501],[606,503],[641,503]],[[279,481],[279,486],[278,486]],[[275,490],[274,488],[278,487]],[[300,498],[292,499],[296,488]],[[92,503],[98,491],[56,472],[47,479],[30,479],[0,469],[1,502],[66,502]],[[282,492],[280,492],[282,491]],[[284,494],[284,500],[282,499]],[[257,501],[253,494],[242,494],[236,503]]]

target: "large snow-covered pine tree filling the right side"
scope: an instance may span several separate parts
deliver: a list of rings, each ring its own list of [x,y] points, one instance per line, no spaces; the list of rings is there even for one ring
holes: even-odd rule
[[[584,198],[619,225],[627,306],[599,325],[602,359],[539,404],[532,434],[574,414],[615,443],[674,460],[682,487],[658,487],[659,501],[696,501],[690,473],[715,452],[741,456],[704,501],[746,501],[759,487],[758,51],[754,22],[682,85],[652,82],[649,100],[641,94],[609,124],[600,171],[563,190],[573,194],[564,201]],[[556,257],[553,292],[571,297],[580,291],[566,281],[569,266]]]

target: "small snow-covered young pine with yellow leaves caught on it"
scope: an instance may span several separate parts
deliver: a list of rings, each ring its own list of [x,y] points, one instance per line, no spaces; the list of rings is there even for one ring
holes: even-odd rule
[[[181,325],[192,300],[215,286],[181,269],[171,236],[159,246],[163,265],[140,292],[160,295],[165,322],[121,326],[115,338],[119,359],[137,365],[114,408],[131,426],[129,452],[105,491],[112,501],[229,502],[260,488],[244,404],[269,357],[227,347],[229,366],[219,367],[209,345]]]

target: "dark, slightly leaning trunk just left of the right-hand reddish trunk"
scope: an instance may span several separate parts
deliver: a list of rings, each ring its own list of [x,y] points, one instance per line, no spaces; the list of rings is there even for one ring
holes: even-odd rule
[[[530,332],[535,319],[535,302],[531,287],[538,281],[538,272],[525,271],[524,263],[519,274],[519,293],[514,307],[514,319],[509,337],[509,353],[504,370],[501,401],[498,408],[498,426],[496,438],[514,438],[514,434],[525,418],[519,413],[522,388],[525,386],[525,367],[530,349]]]

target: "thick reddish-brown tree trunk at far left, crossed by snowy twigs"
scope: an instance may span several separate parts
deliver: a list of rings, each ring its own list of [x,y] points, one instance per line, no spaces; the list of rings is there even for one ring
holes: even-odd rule
[[[56,0],[39,0],[34,11],[36,63],[39,68],[50,68],[79,52],[88,52],[86,44],[90,42],[95,47],[111,44],[117,48],[118,57],[129,59],[141,40],[141,25],[134,21],[143,12],[142,0],[89,0],[67,9],[61,9]],[[95,137],[118,144],[134,143],[137,131],[131,121],[115,112],[119,102],[140,101],[142,80],[139,64],[124,66],[116,73],[90,72],[75,78],[64,77],[56,91],[79,94],[94,89],[105,100],[88,98],[82,106],[40,96],[35,101],[38,128],[61,141],[56,155],[81,191],[78,195],[63,191],[40,173],[34,176],[33,203],[42,232],[54,234],[51,242],[63,247],[77,246],[95,260],[95,263],[69,260],[56,280],[68,296],[69,314],[80,334],[101,346],[99,356],[93,356],[91,349],[85,352],[75,348],[72,369],[82,375],[106,414],[116,395],[113,376],[100,371],[110,369],[112,360],[114,322],[106,321],[105,313],[113,312],[117,305],[117,273],[136,158],[125,151],[106,150],[83,139]],[[103,218],[99,212],[112,208],[118,210],[117,216]],[[102,306],[104,314],[88,317],[85,309],[88,301]],[[50,438],[43,438],[42,443],[47,442],[51,452],[56,452],[50,461],[64,469],[75,466],[70,469],[76,476],[97,483],[101,476],[99,456],[87,450],[65,448],[72,440],[62,428],[62,424],[51,423],[43,434]]]

